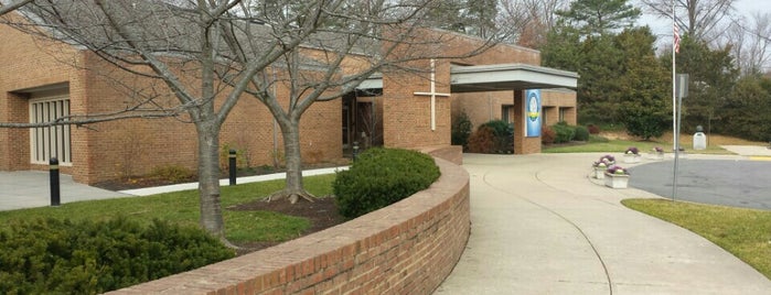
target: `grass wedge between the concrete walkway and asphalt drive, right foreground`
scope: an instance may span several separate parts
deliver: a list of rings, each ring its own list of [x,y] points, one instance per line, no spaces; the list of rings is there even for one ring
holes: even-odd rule
[[[621,203],[713,241],[771,278],[771,211],[664,199]]]

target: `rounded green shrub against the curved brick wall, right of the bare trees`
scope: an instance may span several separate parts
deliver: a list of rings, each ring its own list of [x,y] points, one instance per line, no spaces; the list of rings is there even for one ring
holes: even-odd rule
[[[340,215],[353,219],[426,189],[439,178],[429,155],[400,149],[373,148],[358,155],[333,183]]]

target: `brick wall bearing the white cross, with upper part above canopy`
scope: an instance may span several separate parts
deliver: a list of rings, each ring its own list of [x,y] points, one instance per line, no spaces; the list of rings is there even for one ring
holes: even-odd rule
[[[427,39],[441,40],[439,48],[427,45],[427,51],[439,50],[446,56],[461,56],[476,50],[482,41],[476,37],[465,36],[451,32],[428,31]],[[415,54],[415,53],[407,53]],[[500,44],[489,48],[480,55],[467,58],[439,59],[436,62],[436,89],[437,92],[450,92],[450,65],[488,65],[502,63],[540,64],[540,54],[537,51]],[[421,73],[384,73],[383,97],[385,101],[384,135],[386,146],[416,148],[428,145],[450,144],[451,120],[450,113],[452,98],[437,98],[437,128],[430,129],[430,97],[416,96],[414,92],[428,92],[430,89],[429,61],[413,62],[411,67],[420,68]],[[488,94],[474,94],[486,97]],[[511,101],[511,92],[496,94],[497,101]],[[479,102],[479,100],[474,101]],[[473,102],[471,102],[473,103]],[[512,103],[512,102],[508,102]],[[469,108],[471,109],[471,108]],[[501,111],[494,111],[500,118]],[[488,116],[489,117],[489,116]],[[481,117],[480,117],[481,118]],[[489,120],[484,120],[486,122]]]

